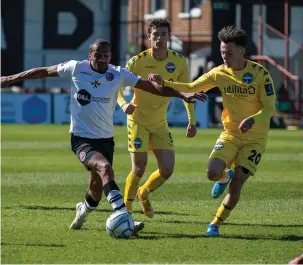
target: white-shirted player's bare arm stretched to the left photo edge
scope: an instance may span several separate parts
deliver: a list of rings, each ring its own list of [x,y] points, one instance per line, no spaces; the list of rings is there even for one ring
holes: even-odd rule
[[[58,77],[57,65],[49,67],[37,67],[32,68],[27,71],[10,75],[10,76],[1,76],[1,87],[7,87],[13,83],[30,80],[30,79],[43,79],[48,77]]]

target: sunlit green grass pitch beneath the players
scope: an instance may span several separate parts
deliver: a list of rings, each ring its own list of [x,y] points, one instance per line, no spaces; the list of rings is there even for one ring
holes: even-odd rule
[[[151,195],[155,217],[136,201],[140,238],[115,240],[102,198],[84,229],[68,229],[83,200],[88,173],[70,150],[67,125],[2,125],[2,263],[279,263],[303,251],[303,131],[271,130],[266,153],[240,203],[220,231],[205,237],[221,199],[211,198],[207,159],[220,130],[171,129],[176,167]],[[115,129],[114,170],[121,190],[131,169],[125,127]],[[156,169],[149,156],[144,179]]]

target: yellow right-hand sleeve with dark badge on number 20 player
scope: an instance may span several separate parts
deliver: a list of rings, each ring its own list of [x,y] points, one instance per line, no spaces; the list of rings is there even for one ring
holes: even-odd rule
[[[267,73],[268,71],[265,70]],[[254,118],[255,123],[262,123],[269,120],[276,111],[276,93],[274,82],[268,73],[262,76],[259,83],[260,89],[260,100],[262,102],[263,108],[251,117]]]

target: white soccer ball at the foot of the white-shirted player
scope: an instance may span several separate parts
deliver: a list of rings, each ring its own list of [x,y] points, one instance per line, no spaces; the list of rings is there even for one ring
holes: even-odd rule
[[[114,238],[130,238],[134,233],[134,220],[127,212],[116,211],[107,218],[106,231]]]

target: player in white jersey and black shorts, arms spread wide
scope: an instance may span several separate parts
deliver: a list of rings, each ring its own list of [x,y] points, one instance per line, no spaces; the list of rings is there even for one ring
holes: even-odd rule
[[[114,211],[127,212],[112,169],[115,145],[113,112],[121,86],[135,86],[154,94],[179,97],[188,102],[193,98],[201,99],[199,94],[184,95],[173,89],[159,92],[156,83],[152,84],[125,68],[109,64],[110,59],[110,43],[99,39],[90,45],[88,60],[71,60],[1,77],[1,87],[22,80],[48,77],[64,77],[71,81],[71,147],[90,171],[90,177],[84,202],[77,203],[76,217],[70,229],[82,227],[87,215],[97,208],[102,191]],[[142,222],[135,222],[135,232],[143,226]]]

